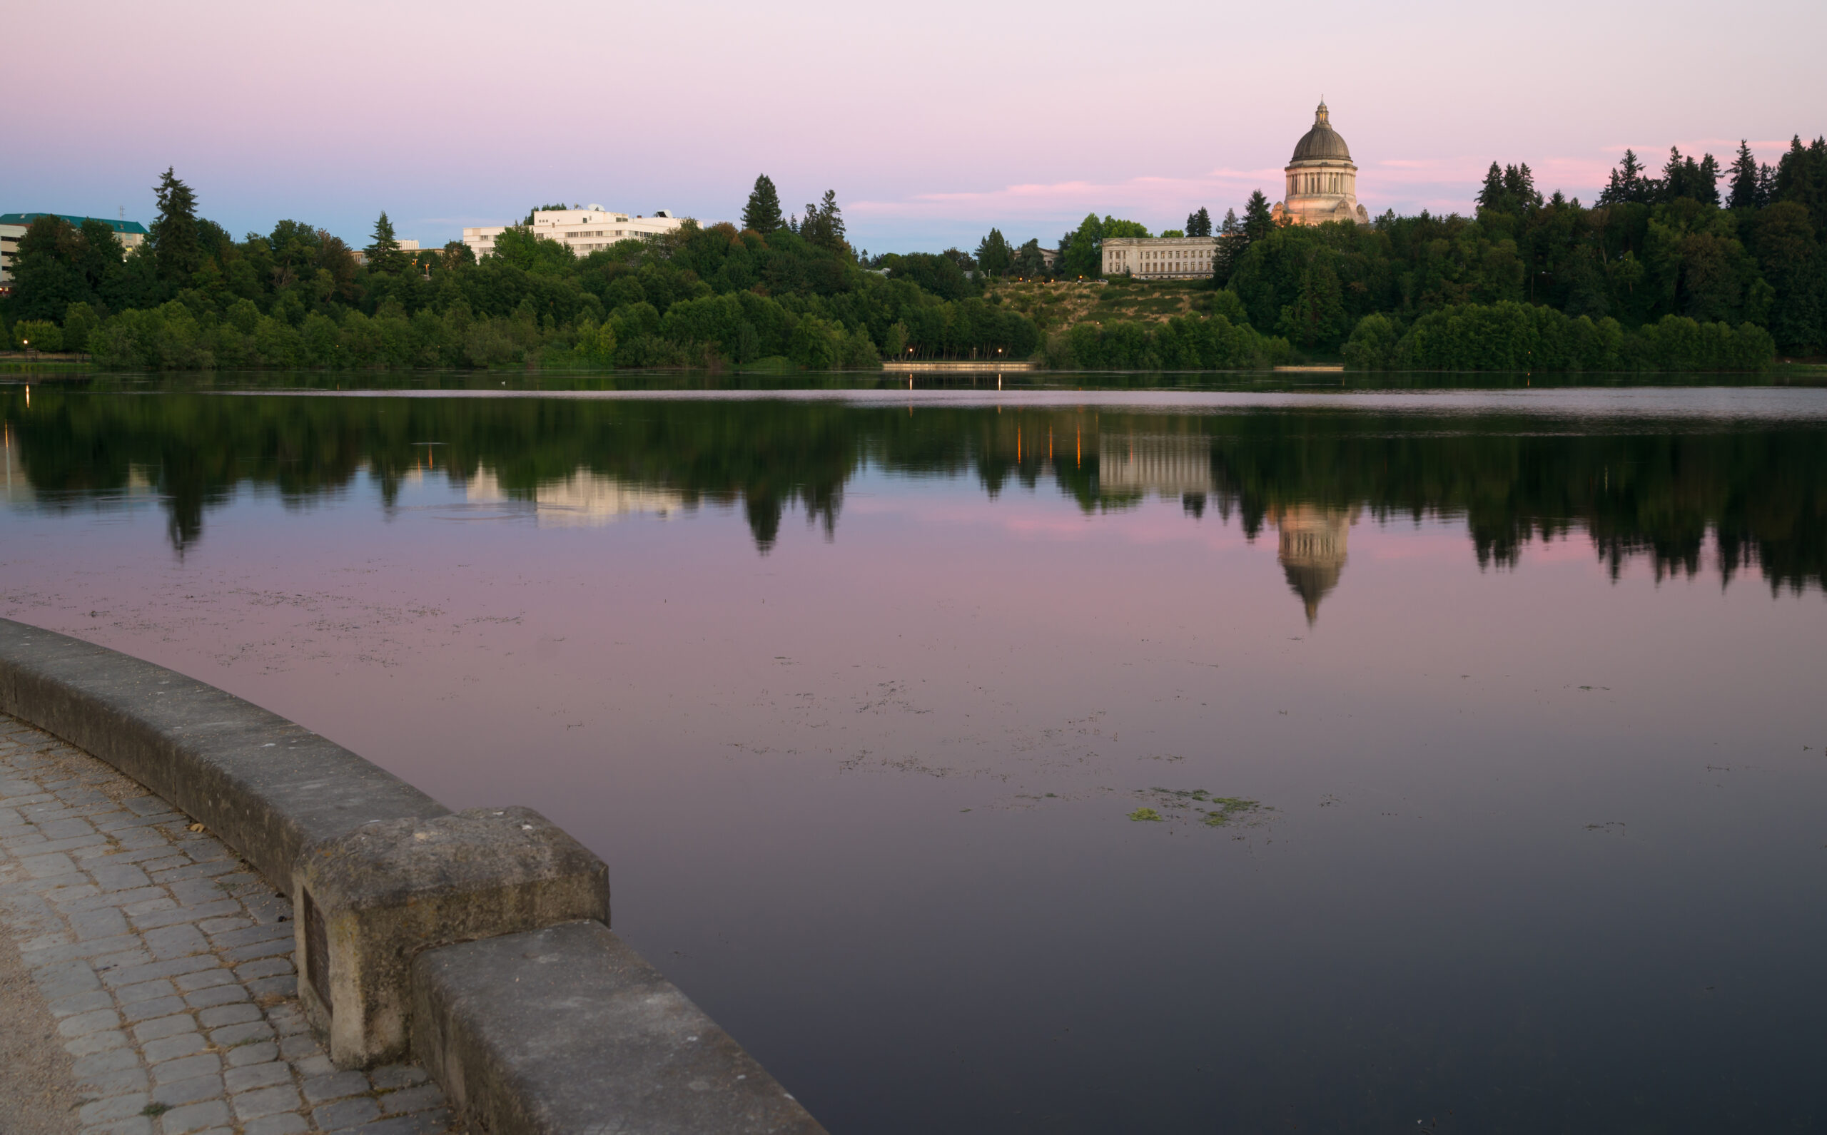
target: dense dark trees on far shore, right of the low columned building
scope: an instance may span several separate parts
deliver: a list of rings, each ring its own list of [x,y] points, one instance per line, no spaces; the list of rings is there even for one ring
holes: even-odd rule
[[[1493,163],[1469,217],[1253,219],[1220,238],[1217,283],[1253,325],[1354,366],[1756,369],[1827,351],[1823,139],[1774,168],[1745,144],[1727,170],[1672,150],[1659,177],[1626,152],[1589,207]]]

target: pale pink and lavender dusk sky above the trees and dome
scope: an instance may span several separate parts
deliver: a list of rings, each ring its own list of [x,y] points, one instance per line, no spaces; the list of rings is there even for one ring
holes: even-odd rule
[[[150,221],[168,164],[232,234],[426,245],[546,201],[734,217],[835,188],[871,252],[1051,245],[1279,197],[1325,95],[1372,214],[1493,161],[1591,199],[1626,146],[1774,161],[1827,132],[1827,5],[1136,0],[9,5],[0,210]]]

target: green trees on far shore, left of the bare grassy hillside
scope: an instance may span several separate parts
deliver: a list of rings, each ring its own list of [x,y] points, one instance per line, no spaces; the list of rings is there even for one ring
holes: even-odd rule
[[[910,258],[870,270],[833,192],[782,216],[756,179],[744,227],[700,227],[576,256],[510,227],[481,260],[460,241],[398,247],[385,212],[356,254],[301,221],[232,239],[174,170],[141,249],[102,223],[38,217],[0,318],[15,342],[104,367],[870,367],[890,358],[1025,358],[1032,320]],[[528,214],[532,216],[532,214]],[[963,285],[959,285],[963,281]]]

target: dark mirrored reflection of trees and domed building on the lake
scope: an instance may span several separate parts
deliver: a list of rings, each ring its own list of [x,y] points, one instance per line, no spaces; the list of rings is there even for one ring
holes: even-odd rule
[[[787,512],[837,534],[859,473],[974,477],[1061,492],[1087,514],[1178,499],[1233,515],[1277,556],[1308,618],[1339,583],[1359,517],[1463,521],[1484,567],[1584,534],[1615,572],[1756,568],[1772,589],[1827,578],[1827,433],[1809,422],[1600,422],[1571,411],[1237,406],[901,406],[840,400],[157,397],[0,391],[15,508],[155,492],[174,548],[238,488],[289,506],[369,473],[384,503],[418,477],[473,501],[528,501],[541,525],[599,525],[700,504],[740,508],[767,554]]]

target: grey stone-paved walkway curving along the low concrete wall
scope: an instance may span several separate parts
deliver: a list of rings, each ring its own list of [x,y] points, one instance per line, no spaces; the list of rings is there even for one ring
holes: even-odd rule
[[[298,1007],[290,901],[190,828],[0,715],[0,927],[75,1056],[84,1135],[451,1130],[420,1067],[331,1066]]]

